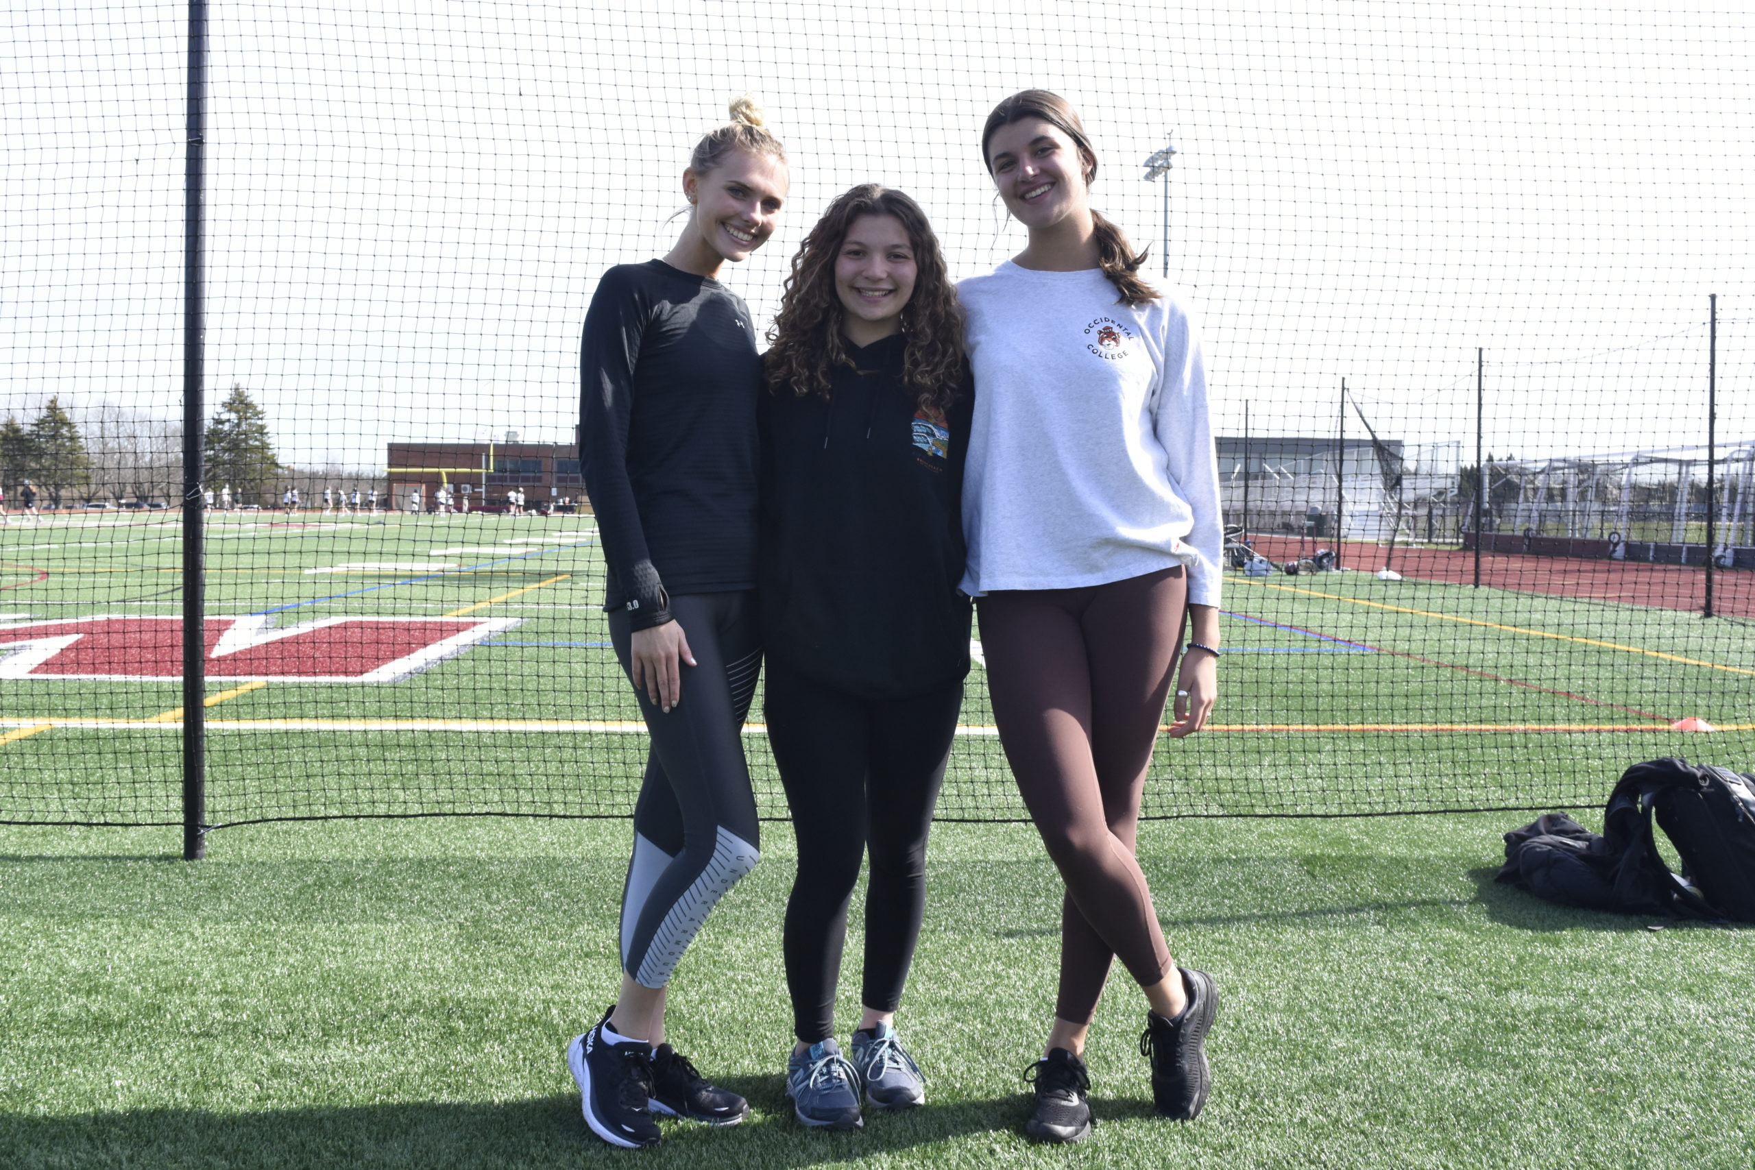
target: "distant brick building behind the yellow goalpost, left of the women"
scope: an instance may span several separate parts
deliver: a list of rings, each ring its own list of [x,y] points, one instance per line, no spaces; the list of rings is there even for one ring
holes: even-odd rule
[[[469,500],[469,510],[504,510],[505,493],[518,488],[532,509],[544,502],[579,505],[584,477],[579,451],[558,442],[393,442],[384,467],[390,481],[388,507],[407,507],[409,493],[419,491],[421,507],[430,510],[441,484],[455,493],[453,507]]]

